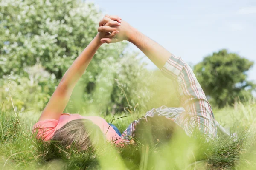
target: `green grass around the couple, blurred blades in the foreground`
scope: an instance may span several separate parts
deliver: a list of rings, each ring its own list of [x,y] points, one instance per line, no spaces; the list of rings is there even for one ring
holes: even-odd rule
[[[2,106],[4,108],[4,106]],[[237,132],[238,140],[220,136],[204,142],[201,138],[175,136],[175,142],[162,147],[142,144],[123,148],[105,144],[99,150],[79,153],[73,148],[61,148],[38,142],[32,137],[32,125],[40,113],[0,111],[0,167],[12,169],[238,169],[256,168],[256,103],[237,104],[215,110],[215,118],[224,127]],[[124,130],[134,116],[116,115],[113,124]],[[19,120],[18,120],[19,119]],[[111,122],[112,116],[105,119]]]

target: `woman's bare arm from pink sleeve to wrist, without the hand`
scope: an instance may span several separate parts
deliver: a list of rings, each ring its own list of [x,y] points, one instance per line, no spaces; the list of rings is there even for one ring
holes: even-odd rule
[[[99,37],[96,36],[79,55],[79,57],[76,58],[52,94],[52,97],[49,100],[47,106],[44,108],[39,121],[45,119],[59,119],[67,106],[76,82],[79,80],[82,74],[84,74],[84,71],[86,70],[91,59],[93,58],[93,55],[96,53],[100,45],[101,42],[99,41]]]

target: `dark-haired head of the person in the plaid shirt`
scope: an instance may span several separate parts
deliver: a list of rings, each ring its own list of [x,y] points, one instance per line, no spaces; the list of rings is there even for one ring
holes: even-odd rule
[[[142,144],[166,144],[176,132],[185,133],[172,119],[165,116],[148,116],[142,117],[135,126],[134,138]]]

